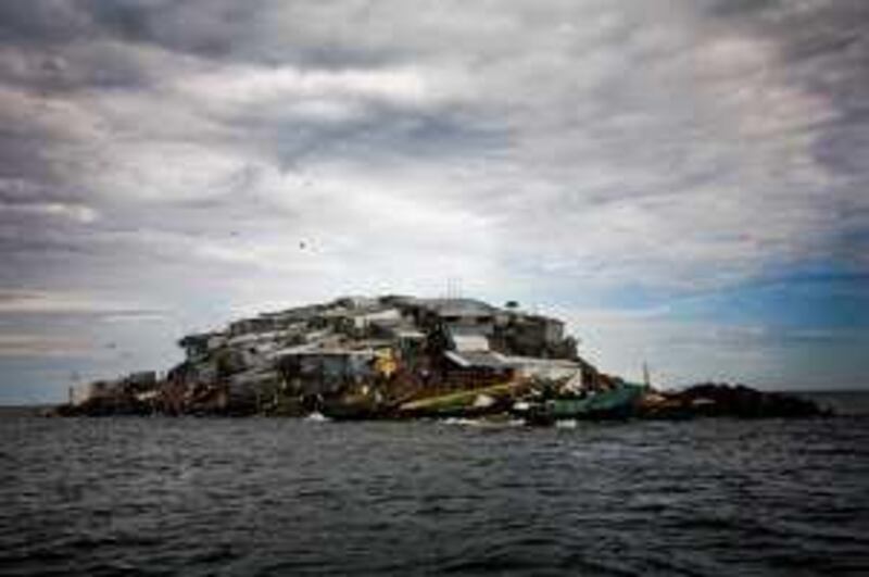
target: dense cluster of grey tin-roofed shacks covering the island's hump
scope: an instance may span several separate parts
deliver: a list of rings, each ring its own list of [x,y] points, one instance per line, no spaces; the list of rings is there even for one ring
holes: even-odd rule
[[[347,297],[260,314],[180,339],[165,377],[140,373],[71,391],[96,413],[304,414],[363,399],[388,410],[506,382],[608,386],[564,323],[516,303]],[[352,401],[351,401],[352,400]]]

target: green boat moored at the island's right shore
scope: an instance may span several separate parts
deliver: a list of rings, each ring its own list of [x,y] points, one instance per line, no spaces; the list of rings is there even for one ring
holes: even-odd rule
[[[628,418],[635,414],[644,387],[629,382],[582,398],[549,399],[531,405],[526,419],[534,425],[551,425],[565,419]]]

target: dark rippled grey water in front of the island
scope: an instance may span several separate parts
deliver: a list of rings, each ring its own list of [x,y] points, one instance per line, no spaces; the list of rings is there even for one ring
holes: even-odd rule
[[[869,417],[0,418],[2,575],[869,575]]]

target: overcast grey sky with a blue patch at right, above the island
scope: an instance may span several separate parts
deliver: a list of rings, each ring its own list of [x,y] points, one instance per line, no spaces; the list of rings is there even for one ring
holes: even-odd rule
[[[866,0],[0,2],[0,402],[347,293],[869,386]]]

